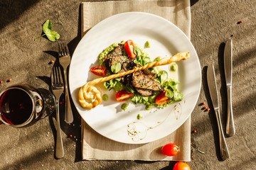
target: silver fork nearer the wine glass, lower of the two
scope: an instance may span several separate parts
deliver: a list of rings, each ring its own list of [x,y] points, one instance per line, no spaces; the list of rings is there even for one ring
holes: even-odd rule
[[[51,79],[51,88],[56,98],[57,135],[56,135],[56,144],[55,144],[55,157],[60,159],[64,157],[63,140],[60,133],[60,108],[59,108],[60,95],[64,91],[64,85],[63,85],[62,74],[60,72],[60,67],[53,67],[53,71],[50,74],[50,79]]]

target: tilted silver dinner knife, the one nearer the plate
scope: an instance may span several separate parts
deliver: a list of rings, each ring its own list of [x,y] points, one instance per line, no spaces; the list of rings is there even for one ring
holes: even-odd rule
[[[210,91],[210,98],[213,103],[213,108],[214,108],[217,123],[218,123],[218,133],[219,133],[219,140],[220,140],[220,157],[221,159],[225,160],[229,158],[229,152],[228,152],[228,146],[225,142],[223,128],[220,120],[220,107],[218,103],[218,92],[217,92],[217,86],[215,81],[215,72],[214,72],[213,64],[208,66],[207,82],[208,82],[208,88]]]

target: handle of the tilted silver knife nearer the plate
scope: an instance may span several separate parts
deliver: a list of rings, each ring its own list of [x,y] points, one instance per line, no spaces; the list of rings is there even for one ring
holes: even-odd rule
[[[224,161],[225,159],[228,159],[230,156],[229,156],[229,152],[228,152],[227,143],[225,142],[223,128],[220,123],[220,111],[219,110],[215,111],[215,114],[216,114],[216,118],[217,118],[218,132],[219,132],[219,139],[220,139],[220,157]]]

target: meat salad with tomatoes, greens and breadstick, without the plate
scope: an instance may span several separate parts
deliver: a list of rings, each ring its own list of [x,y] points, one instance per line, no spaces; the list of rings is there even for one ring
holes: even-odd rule
[[[166,71],[159,71],[156,67],[188,58],[189,52],[180,52],[174,57],[157,57],[152,62],[142,47],[132,40],[114,43],[99,55],[101,66],[90,69],[97,76],[112,76],[95,79],[82,86],[80,104],[84,108],[94,108],[101,103],[100,91],[93,87],[101,82],[106,89],[117,91],[117,101],[131,99],[135,104],[144,103],[147,110],[151,106],[164,108],[174,101],[181,101],[183,94],[176,88],[178,81],[170,79]]]

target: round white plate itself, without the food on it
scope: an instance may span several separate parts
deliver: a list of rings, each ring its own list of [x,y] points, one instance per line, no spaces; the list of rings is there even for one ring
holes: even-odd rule
[[[134,40],[141,47],[149,40],[151,47],[145,50],[152,60],[159,56],[171,57],[177,52],[190,52],[190,59],[177,62],[177,74],[169,74],[181,82],[178,89],[184,94],[183,101],[164,109],[153,108],[146,111],[142,104],[115,101],[114,90],[107,91],[100,84],[97,89],[102,94],[108,94],[109,100],[102,101],[93,109],[82,108],[78,101],[80,87],[87,81],[98,78],[89,69],[99,65],[98,56],[102,50],[113,42],[122,40]],[[159,69],[170,73],[169,67]],[[70,63],[69,85],[75,107],[92,129],[111,140],[142,144],[171,134],[191,115],[201,89],[201,67],[193,45],[173,23],[150,13],[120,13],[98,23],[79,42]],[[126,111],[122,111],[122,103],[129,104]],[[143,118],[138,120],[138,114]]]

